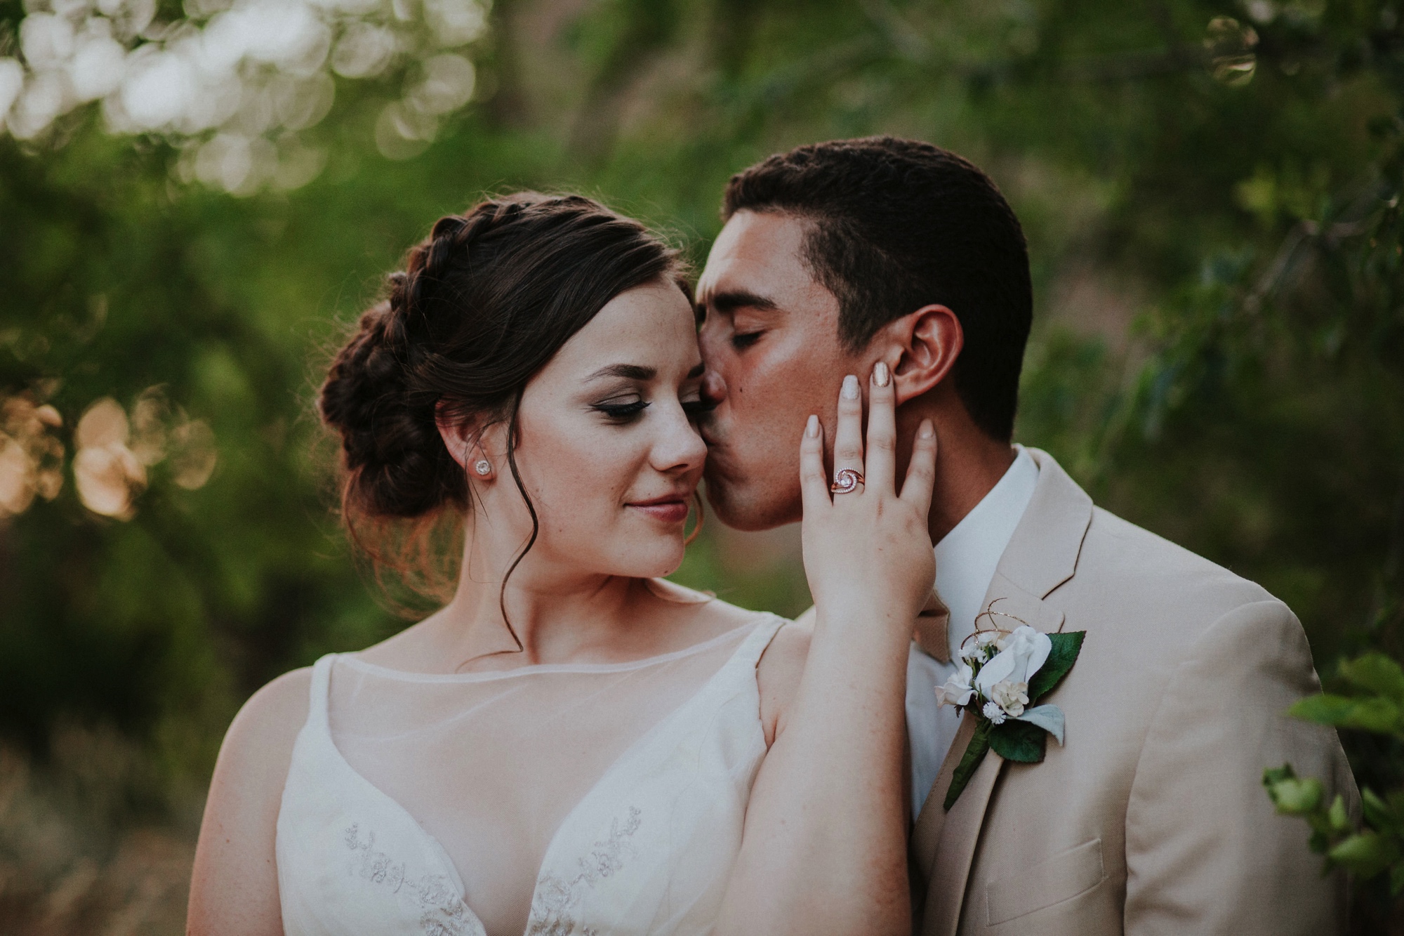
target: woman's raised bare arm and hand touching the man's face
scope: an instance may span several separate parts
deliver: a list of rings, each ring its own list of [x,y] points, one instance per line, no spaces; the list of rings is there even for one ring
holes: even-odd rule
[[[911,929],[906,673],[935,579],[927,513],[936,440],[922,423],[897,496],[890,381],[872,381],[869,398],[866,465],[861,398],[840,399],[834,444],[835,469],[866,468],[863,486],[830,498],[817,420],[802,443],[814,624],[793,638],[809,638],[807,659],[751,790],[719,935]]]

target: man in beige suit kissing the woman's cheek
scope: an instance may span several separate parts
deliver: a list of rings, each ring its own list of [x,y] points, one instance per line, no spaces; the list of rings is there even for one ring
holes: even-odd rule
[[[800,519],[802,426],[834,419],[845,374],[892,368],[903,464],[936,424],[936,580],[907,670],[915,932],[1341,930],[1341,876],[1261,784],[1290,762],[1358,802],[1335,732],[1283,714],[1318,689],[1296,617],[1011,446],[1032,297],[994,183],[928,143],[838,141],[734,176],[723,218],[698,288],[723,523]],[[974,724],[935,687],[987,610],[981,627],[1085,631],[1047,696],[1066,745],[1042,763],[991,752],[948,811]]]

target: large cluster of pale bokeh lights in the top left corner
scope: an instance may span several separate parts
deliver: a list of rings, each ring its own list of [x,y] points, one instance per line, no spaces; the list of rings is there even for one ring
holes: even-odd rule
[[[421,152],[468,104],[465,46],[484,30],[483,0],[188,0],[157,18],[154,0],[28,0],[17,56],[0,58],[0,131],[38,141],[100,103],[114,134],[183,148],[177,176],[232,194],[298,188],[320,173],[303,139],[336,100],[336,80],[400,79],[375,141],[390,159]],[[392,82],[393,83],[393,82]]]

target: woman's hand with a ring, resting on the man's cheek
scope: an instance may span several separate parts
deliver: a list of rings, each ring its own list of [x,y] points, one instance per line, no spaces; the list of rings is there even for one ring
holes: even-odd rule
[[[931,594],[935,554],[927,530],[936,476],[936,433],[922,420],[901,493],[896,492],[897,423],[892,375],[882,361],[868,382],[868,447],[858,378],[845,377],[838,396],[834,478],[863,478],[852,490],[830,493],[824,437],[810,416],[800,441],[804,498],[804,573],[820,618],[868,620],[900,630],[903,641]]]

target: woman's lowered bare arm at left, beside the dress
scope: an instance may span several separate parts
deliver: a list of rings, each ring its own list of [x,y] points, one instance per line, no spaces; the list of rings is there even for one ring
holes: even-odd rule
[[[195,846],[190,936],[282,936],[274,840],[292,745],[307,720],[310,673],[272,680],[229,725]]]

